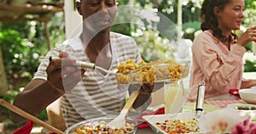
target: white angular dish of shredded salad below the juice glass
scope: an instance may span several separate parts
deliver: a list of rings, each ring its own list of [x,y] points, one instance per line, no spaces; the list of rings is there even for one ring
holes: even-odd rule
[[[155,133],[201,133],[195,112],[183,112],[178,114],[145,115],[143,119]]]

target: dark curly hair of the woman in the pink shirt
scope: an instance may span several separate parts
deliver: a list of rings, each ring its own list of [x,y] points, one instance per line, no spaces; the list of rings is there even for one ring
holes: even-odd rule
[[[221,42],[227,41],[226,36],[222,35],[221,29],[218,28],[218,18],[214,14],[214,8],[218,7],[223,10],[225,5],[232,0],[205,0],[201,7],[201,30],[212,30],[213,36],[216,36]],[[236,35],[232,34],[236,37]]]

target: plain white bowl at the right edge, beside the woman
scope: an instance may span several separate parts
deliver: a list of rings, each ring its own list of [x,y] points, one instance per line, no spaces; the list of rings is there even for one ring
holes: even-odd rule
[[[246,103],[256,104],[256,89],[247,88],[239,90],[239,95]]]

